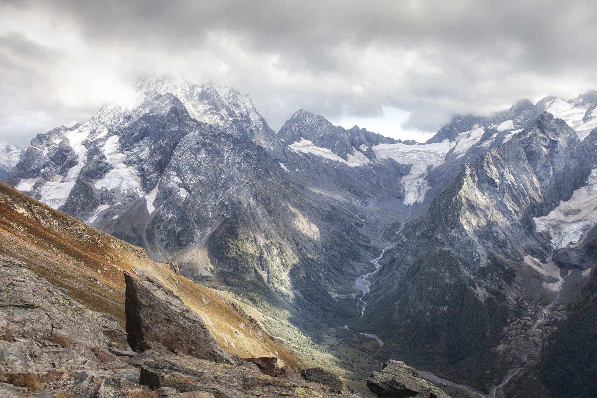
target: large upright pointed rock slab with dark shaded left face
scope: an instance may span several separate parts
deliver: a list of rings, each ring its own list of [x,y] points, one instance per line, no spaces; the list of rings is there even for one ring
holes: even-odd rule
[[[157,342],[168,350],[200,359],[230,363],[232,359],[208,331],[201,316],[148,271],[125,272],[128,343]]]

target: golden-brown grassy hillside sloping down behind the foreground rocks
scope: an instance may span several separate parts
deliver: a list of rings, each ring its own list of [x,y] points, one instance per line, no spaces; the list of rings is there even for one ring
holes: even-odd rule
[[[124,325],[123,271],[152,272],[197,311],[229,354],[276,356],[285,365],[303,366],[293,351],[267,334],[256,320],[212,289],[150,260],[143,249],[106,235],[69,215],[51,209],[0,181],[0,254],[66,289],[85,306],[111,313]]]

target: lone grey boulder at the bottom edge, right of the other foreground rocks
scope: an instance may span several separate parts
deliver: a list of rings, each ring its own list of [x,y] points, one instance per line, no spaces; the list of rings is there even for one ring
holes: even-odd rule
[[[397,360],[389,360],[384,363],[381,372],[373,372],[367,379],[367,387],[380,397],[450,398],[444,391],[421,378],[416,369]]]

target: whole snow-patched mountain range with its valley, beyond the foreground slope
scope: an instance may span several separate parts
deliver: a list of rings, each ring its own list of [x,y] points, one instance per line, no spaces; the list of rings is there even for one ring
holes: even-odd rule
[[[137,92],[7,147],[8,183],[229,291],[347,378],[362,369],[322,348],[331,331],[484,396],[561,394],[549,364],[593,325],[597,92],[457,116],[426,143],[303,109],[276,133],[216,84]],[[590,352],[562,371],[574,396],[597,385]]]

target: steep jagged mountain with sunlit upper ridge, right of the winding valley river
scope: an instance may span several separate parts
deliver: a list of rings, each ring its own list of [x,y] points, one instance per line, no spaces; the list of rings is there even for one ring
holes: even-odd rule
[[[417,366],[425,363],[456,376],[466,363],[479,366],[479,384],[500,380],[494,369],[504,359],[487,347],[506,338],[503,328],[518,317],[509,314],[529,310],[520,304],[523,297],[541,291],[549,296],[562,283],[559,273],[552,278],[529,262],[547,263],[552,256],[534,217],[584,184],[591,159],[573,129],[544,113],[507,143],[465,165],[386,260],[363,322],[383,329],[378,335],[386,345],[392,341],[396,352]],[[418,334],[422,330],[427,332]],[[508,366],[522,362],[522,354],[512,354]],[[495,366],[490,366],[493,381],[482,375],[487,363]]]

